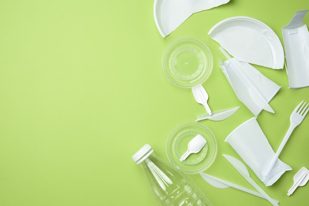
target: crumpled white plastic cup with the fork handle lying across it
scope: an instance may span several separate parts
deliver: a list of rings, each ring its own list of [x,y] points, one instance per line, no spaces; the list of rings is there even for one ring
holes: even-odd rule
[[[275,183],[285,171],[292,170],[290,166],[278,159],[267,178],[264,178],[265,171],[271,162],[270,157],[273,157],[275,153],[256,118],[251,118],[239,125],[225,141],[232,146],[260,180],[264,180],[266,186]]]

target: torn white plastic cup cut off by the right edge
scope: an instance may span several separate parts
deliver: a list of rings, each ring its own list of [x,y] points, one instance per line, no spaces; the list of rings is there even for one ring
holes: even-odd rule
[[[291,22],[281,28],[290,88],[309,86],[309,32],[303,23],[307,12],[297,11]]]

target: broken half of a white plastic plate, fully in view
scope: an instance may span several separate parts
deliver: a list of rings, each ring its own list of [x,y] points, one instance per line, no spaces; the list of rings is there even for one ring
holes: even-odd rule
[[[231,17],[217,23],[208,34],[239,61],[283,69],[284,52],[278,36],[257,19]]]

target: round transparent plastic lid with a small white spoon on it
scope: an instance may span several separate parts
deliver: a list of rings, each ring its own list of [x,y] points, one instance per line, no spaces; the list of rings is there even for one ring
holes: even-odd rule
[[[207,143],[198,153],[190,154],[181,162],[180,158],[188,150],[189,141],[197,135],[204,137]],[[205,125],[197,122],[187,122],[177,126],[166,141],[168,160],[191,174],[208,169],[214,162],[217,151],[218,145],[214,134]]]

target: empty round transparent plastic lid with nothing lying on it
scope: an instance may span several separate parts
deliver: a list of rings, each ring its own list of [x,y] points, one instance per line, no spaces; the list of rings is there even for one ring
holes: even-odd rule
[[[192,88],[203,83],[213,68],[213,57],[208,46],[193,37],[172,41],[162,55],[162,69],[173,84]]]

